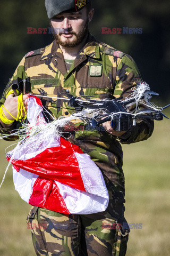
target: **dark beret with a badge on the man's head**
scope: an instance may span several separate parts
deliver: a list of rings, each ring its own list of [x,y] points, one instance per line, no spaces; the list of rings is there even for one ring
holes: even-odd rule
[[[83,9],[91,0],[45,0],[49,19],[61,12],[77,12]]]

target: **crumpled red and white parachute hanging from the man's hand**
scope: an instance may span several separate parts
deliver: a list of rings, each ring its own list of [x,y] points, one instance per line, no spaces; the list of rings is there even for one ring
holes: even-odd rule
[[[88,154],[46,123],[41,101],[28,99],[27,137],[7,153],[15,189],[27,203],[65,214],[105,211],[108,191],[99,167]],[[34,129],[40,132],[31,132]]]

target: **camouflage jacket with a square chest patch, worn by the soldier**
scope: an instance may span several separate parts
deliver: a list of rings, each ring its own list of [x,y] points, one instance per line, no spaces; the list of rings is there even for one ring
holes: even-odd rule
[[[90,34],[68,73],[62,50],[55,41],[45,48],[27,53],[6,86],[1,104],[4,103],[7,92],[18,77],[30,77],[32,93],[58,98],[70,98],[71,95],[94,96],[95,99],[113,99],[123,95],[125,98],[141,81],[139,70],[129,55],[98,42]],[[67,102],[63,99],[43,100],[50,114],[57,118],[76,112],[74,108],[67,106]],[[80,125],[80,120],[71,124],[74,127]],[[125,134],[121,139],[103,130],[85,129],[72,133],[70,141],[89,154],[104,175],[110,198],[108,217],[111,215],[119,219],[124,213],[121,143],[146,140],[152,134],[153,128],[153,121],[145,119],[138,122],[137,126],[133,126],[131,133]],[[1,133],[5,132],[10,131],[1,127]]]

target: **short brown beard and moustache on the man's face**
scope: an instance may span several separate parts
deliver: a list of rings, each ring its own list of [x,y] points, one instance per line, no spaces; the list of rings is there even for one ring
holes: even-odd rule
[[[50,25],[53,29],[53,31],[55,31],[55,29],[53,28],[52,26],[52,23],[50,22]],[[84,27],[82,28],[82,30],[80,31],[79,34],[75,33],[74,31],[72,31],[71,29],[65,29],[66,33],[64,33],[64,29],[63,29],[63,33],[53,33],[53,36],[57,42],[57,44],[63,46],[63,47],[68,47],[68,48],[71,48],[71,47],[75,47],[75,46],[78,46],[79,44],[82,43],[83,39],[87,36],[87,34],[89,33],[89,20],[87,19],[85,24],[84,24]],[[61,35],[62,34],[72,34],[72,35],[75,35],[75,39],[70,41],[69,38],[65,38],[66,41],[62,41],[61,40]]]

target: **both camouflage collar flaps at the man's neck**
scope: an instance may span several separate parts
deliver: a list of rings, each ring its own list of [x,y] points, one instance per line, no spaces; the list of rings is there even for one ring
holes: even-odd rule
[[[41,56],[41,60],[52,58],[56,53],[62,53],[60,46],[54,40],[50,45],[45,48],[43,55]],[[99,42],[92,36],[90,33],[88,34],[88,38],[86,44],[79,52],[79,55],[88,55],[91,58],[100,59],[100,47]]]

